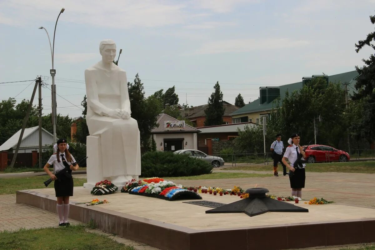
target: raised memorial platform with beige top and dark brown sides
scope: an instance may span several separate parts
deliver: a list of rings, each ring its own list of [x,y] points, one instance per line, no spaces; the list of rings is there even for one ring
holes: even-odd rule
[[[203,201],[224,204],[240,200],[238,196],[200,195]],[[75,204],[94,198],[110,203]],[[168,250],[293,249],[375,242],[375,210],[371,208],[300,202],[297,205],[308,208],[309,213],[269,212],[249,217],[244,213],[206,214],[212,208],[185,201],[120,192],[93,196],[89,189],[75,187],[69,217],[83,223],[93,219],[105,232]],[[17,203],[56,210],[54,189],[18,191]]]

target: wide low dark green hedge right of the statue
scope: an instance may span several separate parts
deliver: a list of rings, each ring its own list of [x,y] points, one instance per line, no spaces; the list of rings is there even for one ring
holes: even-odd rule
[[[142,177],[177,177],[210,174],[212,166],[194,157],[172,152],[152,151],[142,155]]]

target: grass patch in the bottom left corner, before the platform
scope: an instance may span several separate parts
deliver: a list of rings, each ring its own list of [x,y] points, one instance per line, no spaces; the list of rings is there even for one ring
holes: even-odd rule
[[[7,250],[134,250],[132,246],[90,233],[85,226],[21,229],[0,232],[0,249]]]

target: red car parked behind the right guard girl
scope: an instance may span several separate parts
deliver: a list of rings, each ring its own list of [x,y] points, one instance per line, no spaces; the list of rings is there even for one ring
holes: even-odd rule
[[[308,163],[346,162],[350,160],[347,152],[326,145],[309,145],[305,153]]]

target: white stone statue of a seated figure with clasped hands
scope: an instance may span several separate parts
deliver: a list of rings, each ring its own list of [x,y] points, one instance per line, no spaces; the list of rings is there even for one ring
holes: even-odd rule
[[[102,60],[85,70],[87,115],[87,183],[101,180],[121,187],[141,174],[141,148],[137,121],[130,117],[126,72],[113,60],[116,45],[103,40]]]

